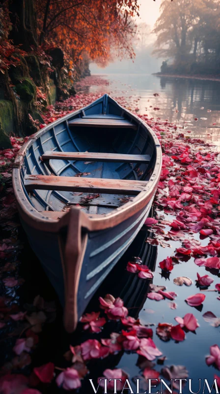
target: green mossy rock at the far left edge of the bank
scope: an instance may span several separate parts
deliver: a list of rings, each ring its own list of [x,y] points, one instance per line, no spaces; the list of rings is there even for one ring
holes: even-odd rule
[[[14,130],[13,104],[9,100],[0,100],[0,147],[11,148],[9,134]]]

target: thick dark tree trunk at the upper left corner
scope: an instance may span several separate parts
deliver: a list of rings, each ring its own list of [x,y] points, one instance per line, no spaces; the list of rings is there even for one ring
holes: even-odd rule
[[[37,17],[35,0],[11,0],[9,2],[12,31],[9,38],[15,45],[29,52],[37,47]]]

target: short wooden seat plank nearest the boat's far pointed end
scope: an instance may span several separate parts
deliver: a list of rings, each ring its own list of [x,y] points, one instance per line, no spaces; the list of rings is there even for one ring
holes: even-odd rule
[[[120,128],[134,129],[138,126],[128,120],[122,119],[94,119],[94,118],[75,118],[68,122],[69,127],[102,127],[102,128]]]

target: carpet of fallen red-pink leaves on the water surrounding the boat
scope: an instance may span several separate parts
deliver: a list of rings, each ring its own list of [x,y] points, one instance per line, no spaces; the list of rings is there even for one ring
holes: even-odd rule
[[[101,83],[108,85],[87,78],[78,89]],[[100,93],[81,92],[48,107],[44,125],[98,97]],[[137,98],[116,99],[138,114]],[[73,335],[63,331],[57,298],[27,244],[15,206],[11,170],[27,138],[11,138],[13,149],[0,152],[1,394],[83,393],[88,376],[120,378],[120,390],[128,374],[140,377],[145,390],[146,379],[160,377],[211,382],[215,376],[220,387],[218,153],[191,138],[182,125],[146,114],[140,118],[156,132],[163,149],[154,218],[144,226],[147,242],[158,247],[158,259],[151,270],[131,255],[122,275],[148,283],[149,293],[137,319],[119,294],[98,290],[94,309],[83,315]],[[174,389],[178,392],[178,386]]]

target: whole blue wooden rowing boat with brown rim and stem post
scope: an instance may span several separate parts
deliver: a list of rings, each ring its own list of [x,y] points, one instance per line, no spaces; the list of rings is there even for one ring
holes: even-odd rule
[[[19,151],[12,174],[19,214],[67,331],[142,227],[161,166],[155,133],[108,95]]]

